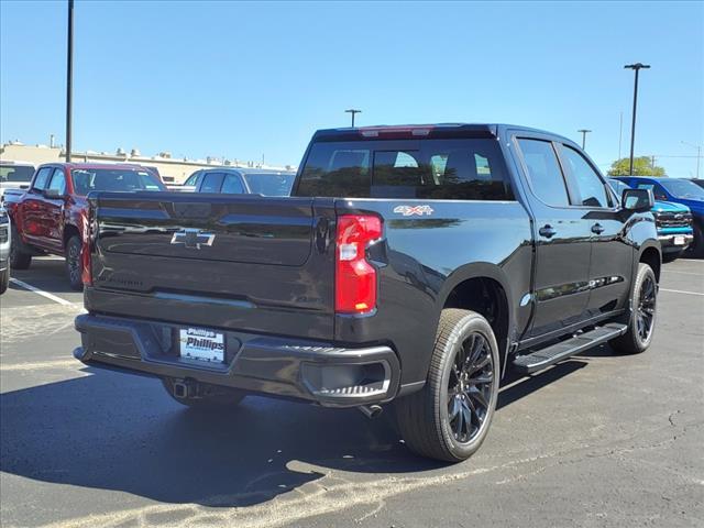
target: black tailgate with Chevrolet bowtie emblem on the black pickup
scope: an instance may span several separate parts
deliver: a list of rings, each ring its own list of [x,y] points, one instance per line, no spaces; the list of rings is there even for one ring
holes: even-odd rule
[[[332,337],[332,201],[100,193],[90,208],[90,310]]]

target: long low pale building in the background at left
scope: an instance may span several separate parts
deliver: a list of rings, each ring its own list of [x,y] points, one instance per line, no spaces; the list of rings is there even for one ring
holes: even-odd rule
[[[58,146],[25,145],[20,142],[6,143],[0,147],[0,160],[11,162],[29,162],[33,165],[66,161],[66,153]],[[130,152],[118,148],[113,154],[107,152],[74,152],[72,161],[77,163],[133,163],[145,167],[154,167],[166,183],[183,184],[188,176],[201,168],[212,167],[256,167],[273,170],[295,170],[295,167],[270,166],[255,162],[239,162],[237,160],[188,160],[174,158],[168,152],[161,152],[156,156],[143,156],[133,148]]]

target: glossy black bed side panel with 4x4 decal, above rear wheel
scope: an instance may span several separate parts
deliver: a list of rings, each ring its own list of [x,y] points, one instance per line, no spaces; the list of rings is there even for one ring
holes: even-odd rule
[[[404,216],[399,206],[428,206]],[[529,319],[520,307],[530,292],[530,219],[517,201],[338,200],[337,213],[377,213],[384,238],[370,250],[380,273],[374,315],[337,316],[341,342],[392,344],[402,362],[403,384],[426,378],[440,311],[452,289],[472,277],[497,280],[506,292],[509,336]],[[471,263],[471,264],[468,264]]]

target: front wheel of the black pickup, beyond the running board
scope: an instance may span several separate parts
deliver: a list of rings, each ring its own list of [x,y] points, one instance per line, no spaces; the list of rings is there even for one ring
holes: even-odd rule
[[[610,341],[612,348],[623,354],[639,354],[645,352],[654,333],[658,283],[656,274],[648,264],[638,264],[638,273],[630,294],[630,316],[628,330],[623,336]]]

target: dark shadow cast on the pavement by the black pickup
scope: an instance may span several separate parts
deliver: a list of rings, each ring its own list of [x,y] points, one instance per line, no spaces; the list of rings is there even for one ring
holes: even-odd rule
[[[585,364],[509,377],[498,407]],[[2,472],[163,503],[233,507],[265,503],[330,471],[400,474],[446,465],[415,457],[393,413],[370,420],[355,409],[248,397],[227,416],[202,414],[172,402],[156,380],[81,372],[88,375],[0,395]]]

